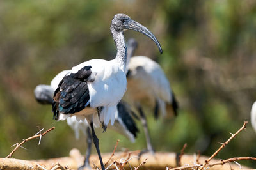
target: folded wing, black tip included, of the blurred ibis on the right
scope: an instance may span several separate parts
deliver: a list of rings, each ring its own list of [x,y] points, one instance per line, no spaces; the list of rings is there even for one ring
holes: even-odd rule
[[[134,81],[136,84],[129,84],[129,86],[132,86],[133,89],[136,88],[135,86],[140,86],[137,87],[140,90],[136,91],[135,95],[147,94],[149,100],[155,102],[154,114],[156,117],[159,110],[164,116],[166,115],[166,105],[173,110],[174,114],[177,114],[177,100],[160,65],[145,56],[135,56],[131,58],[128,68],[127,79],[130,79],[129,82],[132,82],[131,79],[136,80]],[[131,87],[128,87],[128,91],[131,91],[129,88]]]

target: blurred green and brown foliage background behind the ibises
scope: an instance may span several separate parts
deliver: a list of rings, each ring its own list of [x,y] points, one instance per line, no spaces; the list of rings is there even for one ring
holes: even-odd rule
[[[86,150],[65,121],[52,120],[51,106],[33,96],[38,84],[49,84],[61,70],[93,58],[113,59],[115,45],[109,26],[116,13],[125,13],[148,27],[163,47],[146,36],[136,38],[136,55],[155,59],[171,82],[180,110],[177,118],[155,121],[148,116],[157,151],[211,155],[236,132],[256,100],[256,1],[0,1],[0,157],[10,146],[40,128],[56,129],[24,144],[13,158],[67,156],[71,148]],[[152,115],[152,114],[150,114]],[[136,143],[111,130],[97,130],[102,152],[145,148],[140,123]],[[250,123],[218,158],[256,156],[256,134]],[[95,149],[93,148],[95,153]],[[252,166],[253,162],[241,162]],[[254,166],[256,167],[256,166]]]

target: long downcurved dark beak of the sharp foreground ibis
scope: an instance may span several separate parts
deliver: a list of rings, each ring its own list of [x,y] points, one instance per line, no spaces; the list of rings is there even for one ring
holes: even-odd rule
[[[163,50],[162,50],[162,47],[160,45],[160,43],[158,42],[156,36],[154,36],[148,29],[147,27],[145,26],[142,26],[140,23],[132,20],[132,19],[128,19],[125,21],[125,29],[131,29],[131,30],[134,30],[134,31],[138,31],[140,33],[143,33],[143,35],[147,35],[149,38],[151,38],[151,40],[153,40],[158,49],[159,49],[159,52],[161,52],[161,54],[163,53]]]

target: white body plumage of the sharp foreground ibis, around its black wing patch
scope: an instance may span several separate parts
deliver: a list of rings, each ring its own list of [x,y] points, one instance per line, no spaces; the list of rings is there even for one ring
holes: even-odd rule
[[[105,125],[108,125],[109,120],[111,120],[111,125],[113,125],[115,121],[116,105],[123,97],[127,87],[124,70],[120,68],[120,65],[118,65],[116,59],[111,61],[92,59],[74,66],[70,71],[65,70],[61,72],[60,75],[57,75],[57,77],[59,79],[61,76],[64,77],[65,75],[70,75],[71,73],[77,73],[84,66],[92,66],[91,70],[94,74],[93,76],[95,77],[93,82],[87,83],[90,95],[90,107],[97,108],[104,106],[102,111],[100,111],[100,121],[104,122]],[[52,81],[55,80],[53,79]],[[51,82],[51,84],[55,83]],[[93,111],[97,113],[97,109],[93,109]],[[65,120],[68,116],[74,116],[74,114],[63,115],[60,113],[59,120]],[[89,118],[88,121],[91,122],[90,118],[93,117],[88,117],[88,114],[79,114],[77,118],[81,118],[81,120],[84,120],[84,118]],[[101,123],[97,126],[100,125]]]

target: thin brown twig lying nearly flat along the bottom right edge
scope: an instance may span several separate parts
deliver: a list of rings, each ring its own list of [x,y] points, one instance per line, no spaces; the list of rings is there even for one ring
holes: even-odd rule
[[[237,160],[256,160],[255,157],[235,157],[235,158],[228,158],[226,160],[220,160],[219,162],[215,162],[213,164],[207,164],[205,166],[207,167],[212,167],[212,166],[218,166],[218,165],[224,165],[226,163],[229,163],[229,162],[234,162],[234,161],[237,161]],[[171,168],[169,170],[182,170],[182,169],[190,169],[190,168],[200,168],[202,167],[203,165],[198,165],[198,166],[184,166],[184,167],[175,167],[175,168]]]

